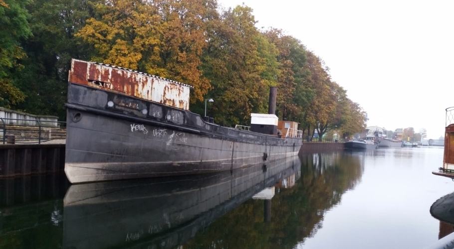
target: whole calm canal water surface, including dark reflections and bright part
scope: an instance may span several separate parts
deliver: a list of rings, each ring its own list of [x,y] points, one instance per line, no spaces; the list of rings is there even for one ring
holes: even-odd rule
[[[218,174],[0,181],[0,248],[423,248],[454,191],[443,148],[308,154]],[[64,199],[63,199],[64,197]]]

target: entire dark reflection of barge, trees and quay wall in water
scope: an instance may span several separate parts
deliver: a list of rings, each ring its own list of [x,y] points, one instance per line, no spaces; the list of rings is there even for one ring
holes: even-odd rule
[[[368,153],[73,185],[64,200],[58,196],[65,184],[3,181],[0,248],[294,248],[315,235],[325,213],[359,183],[365,158],[375,156]]]

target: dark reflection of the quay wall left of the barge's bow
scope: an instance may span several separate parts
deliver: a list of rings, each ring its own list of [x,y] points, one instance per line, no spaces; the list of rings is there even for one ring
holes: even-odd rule
[[[61,248],[64,174],[0,179],[0,248]]]

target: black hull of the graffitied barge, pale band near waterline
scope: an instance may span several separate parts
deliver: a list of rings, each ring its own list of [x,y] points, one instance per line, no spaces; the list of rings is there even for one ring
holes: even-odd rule
[[[148,115],[107,107],[118,99]],[[298,138],[209,124],[184,110],[71,83],[66,108],[71,183],[233,170],[296,155],[301,146]]]

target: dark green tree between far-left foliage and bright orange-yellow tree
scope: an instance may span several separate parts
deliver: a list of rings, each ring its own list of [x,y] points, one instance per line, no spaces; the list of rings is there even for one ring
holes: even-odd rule
[[[89,47],[74,37],[93,16],[96,0],[33,0],[26,5],[33,36],[21,41],[23,70],[12,79],[24,101],[11,108],[65,119],[68,71],[72,58],[88,59]]]

